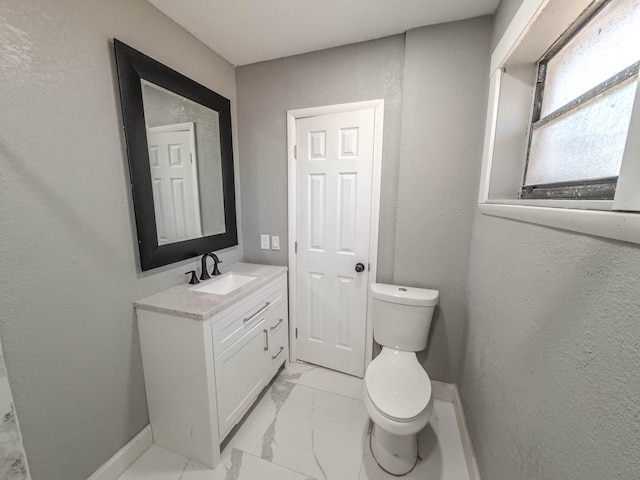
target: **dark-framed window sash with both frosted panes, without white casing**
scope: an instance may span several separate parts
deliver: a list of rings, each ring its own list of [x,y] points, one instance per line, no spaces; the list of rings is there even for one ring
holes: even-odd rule
[[[613,200],[640,60],[640,2],[594,2],[538,61],[520,198]]]

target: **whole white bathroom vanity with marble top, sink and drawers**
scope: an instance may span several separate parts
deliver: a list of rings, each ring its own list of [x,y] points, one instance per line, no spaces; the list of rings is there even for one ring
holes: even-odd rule
[[[286,267],[237,263],[135,302],[154,443],[211,468],[289,356]]]

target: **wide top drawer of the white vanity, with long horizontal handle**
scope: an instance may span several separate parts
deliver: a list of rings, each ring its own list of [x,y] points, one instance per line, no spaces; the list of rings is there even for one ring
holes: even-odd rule
[[[214,323],[211,327],[214,357],[218,357],[257,323],[270,318],[275,309],[286,303],[283,302],[284,293],[282,283],[278,282]]]

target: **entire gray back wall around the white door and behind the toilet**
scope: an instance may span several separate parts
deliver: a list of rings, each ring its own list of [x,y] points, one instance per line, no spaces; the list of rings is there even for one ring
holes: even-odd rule
[[[456,381],[488,85],[491,18],[237,69],[244,249],[287,264],[286,111],[385,99],[378,281],[438,288],[421,360]],[[403,75],[404,72],[404,75]],[[396,220],[397,217],[397,220]],[[280,252],[259,234],[280,235]]]

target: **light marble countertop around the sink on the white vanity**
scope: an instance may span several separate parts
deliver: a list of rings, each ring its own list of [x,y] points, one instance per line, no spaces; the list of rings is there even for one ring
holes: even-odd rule
[[[215,277],[211,280],[200,282],[198,285],[184,283],[138,300],[134,302],[134,306],[142,310],[178,315],[180,317],[193,318],[194,320],[208,320],[272,280],[281,275],[286,275],[287,267],[235,263],[227,267],[222,273],[228,272],[245,273],[247,275],[255,275],[258,278],[227,295],[192,290],[194,287],[201,287],[208,282],[215,281]]]

